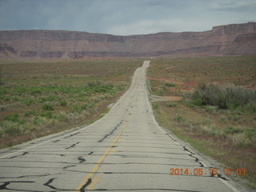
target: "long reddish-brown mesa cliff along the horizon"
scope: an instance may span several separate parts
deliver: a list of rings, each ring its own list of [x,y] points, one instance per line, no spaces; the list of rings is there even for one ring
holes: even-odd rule
[[[256,23],[205,32],[116,36],[61,30],[0,31],[0,58],[256,54]]]

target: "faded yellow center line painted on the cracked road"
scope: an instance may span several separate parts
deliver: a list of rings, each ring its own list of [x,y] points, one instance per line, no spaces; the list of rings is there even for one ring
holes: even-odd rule
[[[90,190],[93,189],[93,187],[96,185],[96,182],[98,181],[98,178],[94,178],[94,174],[95,172],[98,170],[98,168],[102,165],[102,162],[104,161],[104,159],[106,158],[106,156],[108,154],[110,154],[110,152],[114,152],[113,150],[113,146],[115,145],[116,142],[119,141],[119,139],[121,138],[124,130],[126,129],[126,125],[122,128],[122,131],[120,134],[118,134],[118,137],[114,139],[114,141],[110,144],[110,146],[108,147],[108,149],[106,150],[106,152],[102,155],[102,157],[98,160],[97,164],[94,166],[94,168],[92,170],[90,170],[90,174],[87,174],[86,177],[82,180],[82,182],[80,183],[80,185],[78,186],[78,188],[75,191],[81,191],[83,188],[83,190],[85,190],[86,188],[86,183],[88,183],[88,189],[89,189],[89,185],[93,185],[90,187]]]

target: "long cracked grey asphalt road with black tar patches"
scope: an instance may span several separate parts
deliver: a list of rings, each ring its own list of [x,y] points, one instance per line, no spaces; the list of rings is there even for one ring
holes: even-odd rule
[[[1,150],[0,190],[238,191],[157,125],[146,90],[149,64],[97,122]]]

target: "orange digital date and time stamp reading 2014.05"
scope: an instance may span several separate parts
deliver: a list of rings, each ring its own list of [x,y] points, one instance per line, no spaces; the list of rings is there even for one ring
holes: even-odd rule
[[[208,169],[203,169],[203,168],[194,168],[194,169],[189,169],[189,168],[171,168],[170,169],[170,175],[218,175],[222,172],[224,175],[246,175],[246,169],[235,169],[232,170],[230,168],[222,169],[222,171],[215,169],[215,168],[208,168]]]

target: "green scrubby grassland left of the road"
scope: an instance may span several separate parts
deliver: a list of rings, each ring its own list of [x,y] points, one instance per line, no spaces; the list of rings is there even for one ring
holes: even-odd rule
[[[102,117],[142,59],[0,60],[0,148]]]

